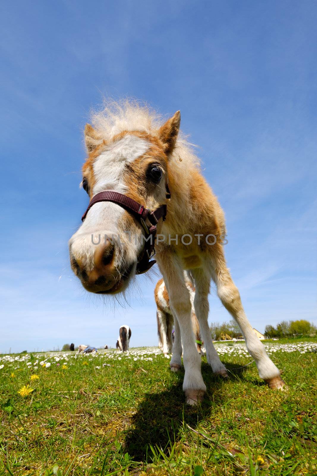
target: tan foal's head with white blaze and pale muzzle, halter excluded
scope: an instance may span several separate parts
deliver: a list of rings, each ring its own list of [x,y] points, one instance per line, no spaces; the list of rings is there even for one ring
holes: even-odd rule
[[[113,131],[87,124],[88,157],[82,186],[90,199],[113,190],[151,210],[166,203],[168,157],[180,125],[179,111],[157,129],[138,130],[121,121]],[[85,221],[69,240],[71,267],[87,291],[114,294],[124,291],[134,276],[144,248],[143,228],[120,205],[95,203]]]

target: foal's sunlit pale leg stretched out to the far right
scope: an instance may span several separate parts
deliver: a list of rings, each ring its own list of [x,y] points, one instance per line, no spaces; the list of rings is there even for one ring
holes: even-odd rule
[[[223,248],[215,244],[211,255],[212,278],[217,285],[218,296],[223,306],[239,324],[245,338],[247,349],[258,367],[259,376],[270,388],[282,388],[285,382],[281,379],[279,369],[273,364],[262,342],[255,335],[253,328],[242,307],[238,288],[232,281],[223,254]]]

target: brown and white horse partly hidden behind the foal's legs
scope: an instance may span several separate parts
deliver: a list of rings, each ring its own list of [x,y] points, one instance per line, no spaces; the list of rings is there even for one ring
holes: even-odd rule
[[[185,273],[185,282],[189,290],[192,302],[192,330],[195,336],[195,342],[198,352],[202,355],[202,338],[200,334],[199,322],[195,314],[195,309],[193,307],[193,300],[195,297],[194,288],[192,281],[188,278],[187,273]],[[160,279],[154,289],[154,298],[156,302],[156,319],[157,319],[157,335],[159,338],[159,347],[162,350],[163,354],[167,355],[172,352],[173,341],[172,341],[172,329],[174,327],[174,343],[176,340],[175,346],[178,347],[179,344],[177,339],[181,339],[181,332],[178,326],[177,319],[174,321],[173,313],[170,307],[170,298],[165,286],[163,279]],[[182,345],[182,341],[181,341]],[[174,371],[179,370],[178,366],[175,368],[171,366],[171,369]]]

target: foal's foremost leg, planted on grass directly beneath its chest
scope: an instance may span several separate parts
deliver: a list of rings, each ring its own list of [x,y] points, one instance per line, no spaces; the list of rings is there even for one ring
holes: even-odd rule
[[[177,258],[172,257],[167,250],[165,250],[163,256],[157,258],[170,297],[170,307],[173,312],[174,322],[178,321],[181,330],[185,368],[183,391],[185,392],[186,402],[190,405],[195,405],[198,401],[202,401],[206,386],[202,379],[201,357],[197,352],[192,331],[192,304],[189,290],[186,287],[183,269]],[[177,333],[175,339],[177,339]],[[176,362],[176,358],[179,364],[179,354],[177,356],[174,355],[173,348],[171,367]]]

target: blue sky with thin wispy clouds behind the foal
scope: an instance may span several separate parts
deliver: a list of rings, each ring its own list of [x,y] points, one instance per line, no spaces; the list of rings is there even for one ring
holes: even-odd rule
[[[7,2],[1,23],[0,351],[155,345],[155,278],[130,306],[88,296],[67,240],[82,130],[102,97],[182,114],[225,210],[226,256],[250,322],[316,323],[317,4]],[[211,297],[210,322],[230,316]]]

